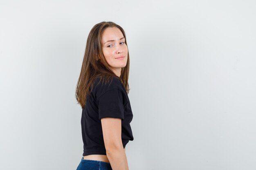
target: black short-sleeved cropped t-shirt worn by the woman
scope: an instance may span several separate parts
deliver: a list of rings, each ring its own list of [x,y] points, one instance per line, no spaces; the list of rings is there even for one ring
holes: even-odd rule
[[[112,82],[110,80],[107,84],[99,80],[100,78],[95,79],[92,92],[88,95],[82,110],[83,156],[106,155],[101,126],[103,117],[121,119],[121,137],[124,148],[129,140],[133,140],[130,127],[133,115],[124,85],[117,77],[113,77]]]

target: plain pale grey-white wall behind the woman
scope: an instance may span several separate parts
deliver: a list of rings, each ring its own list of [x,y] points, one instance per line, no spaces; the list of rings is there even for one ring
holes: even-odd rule
[[[255,0],[0,1],[0,169],[75,170],[90,29],[124,28],[130,170],[256,169]]]

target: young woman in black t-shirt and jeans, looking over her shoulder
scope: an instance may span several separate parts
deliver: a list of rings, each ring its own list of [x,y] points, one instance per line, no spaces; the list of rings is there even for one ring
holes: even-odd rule
[[[133,140],[128,77],[124,29],[114,22],[94,25],[76,85],[83,139],[83,157],[76,170],[128,170],[125,146]]]

